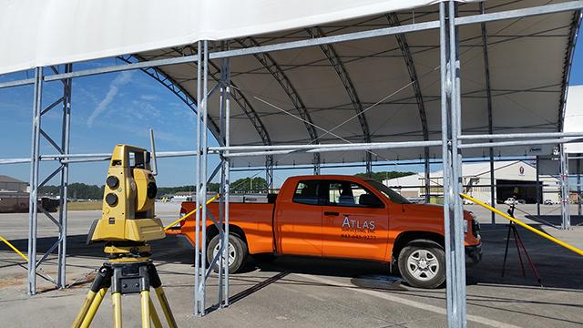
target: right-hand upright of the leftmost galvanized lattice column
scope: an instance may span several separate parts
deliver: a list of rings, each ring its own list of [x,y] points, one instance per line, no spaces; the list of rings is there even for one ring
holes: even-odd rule
[[[73,71],[73,64],[65,66],[65,73]],[[69,154],[69,136],[71,130],[71,87],[73,81],[68,78],[63,81],[63,125],[61,131],[61,149],[65,155]],[[59,231],[61,243],[58,246],[58,288],[65,288],[66,284],[66,223],[67,223],[67,198],[68,198],[68,184],[69,184],[69,164],[64,163],[61,169],[61,188],[59,200],[59,223],[62,226]]]

